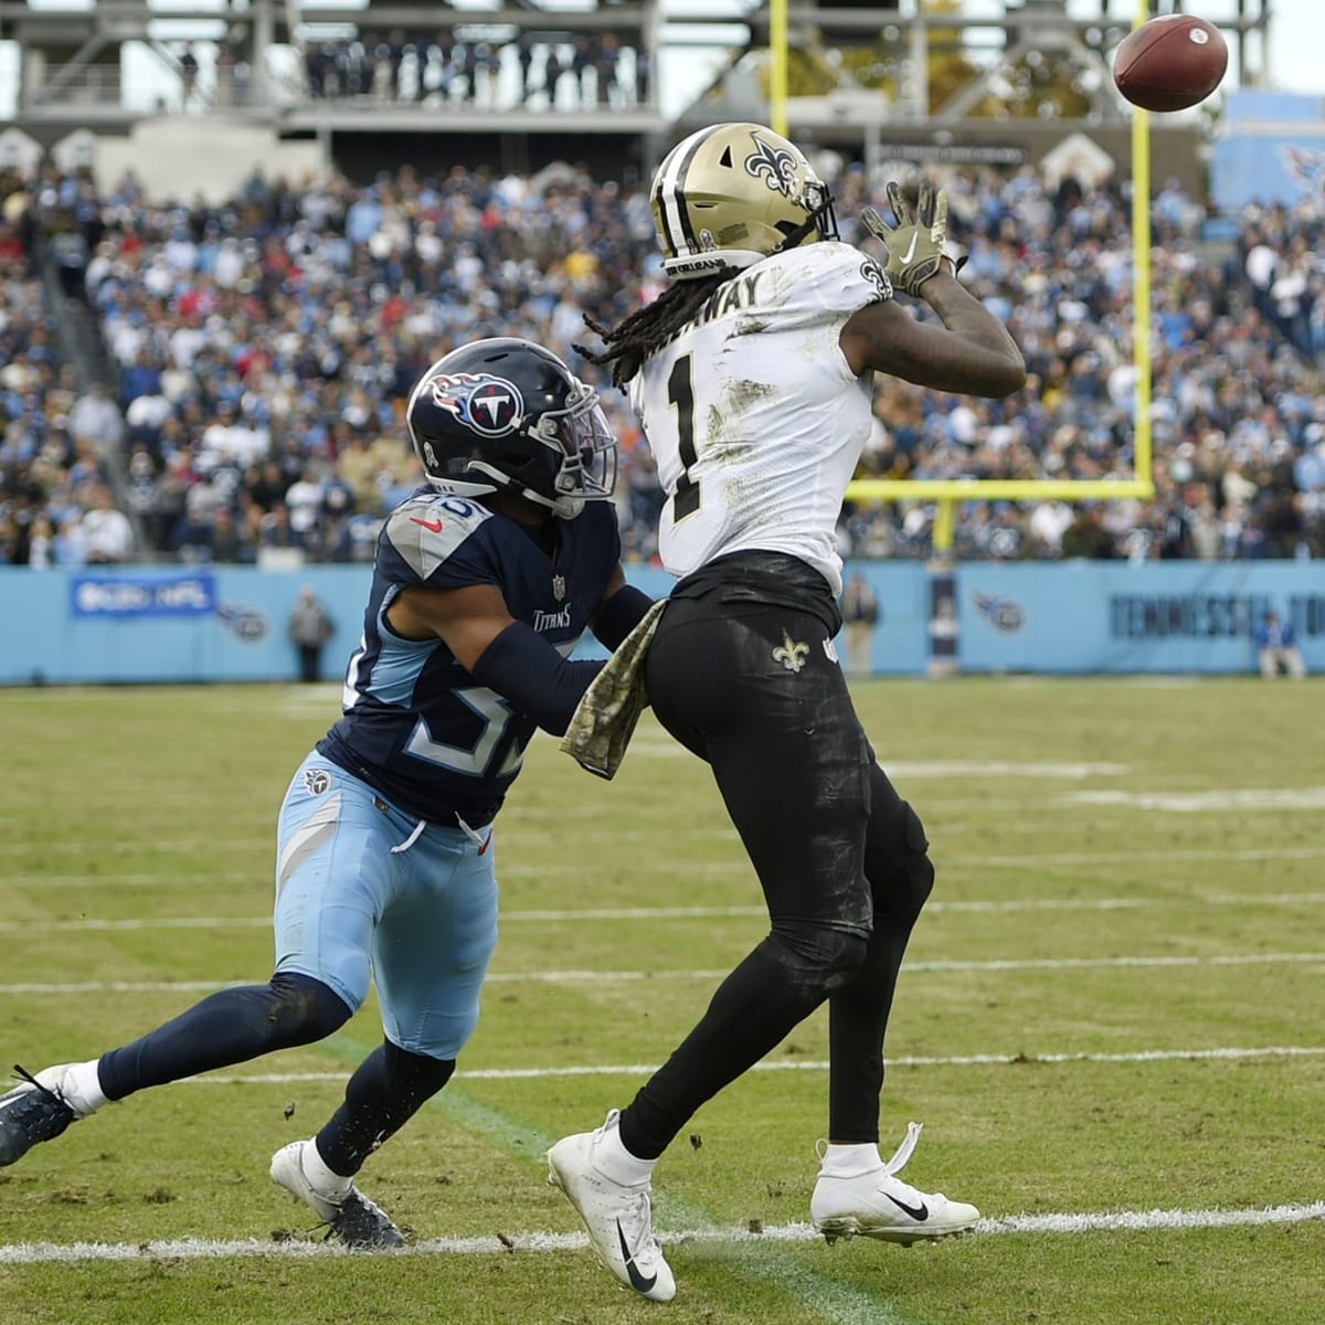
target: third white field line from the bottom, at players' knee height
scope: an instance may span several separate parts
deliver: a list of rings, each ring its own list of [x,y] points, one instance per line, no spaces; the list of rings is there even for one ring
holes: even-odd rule
[[[1198,967],[1198,966],[1316,966],[1325,962],[1325,953],[1238,953],[1223,957],[1043,957],[990,962],[908,962],[906,970],[920,971],[1064,971],[1092,967]],[[678,971],[492,971],[488,984],[621,984],[648,980],[713,980],[725,979],[731,971],[690,969]],[[167,990],[215,990],[252,980],[85,980],[80,983],[0,984],[4,994],[147,994]]]

